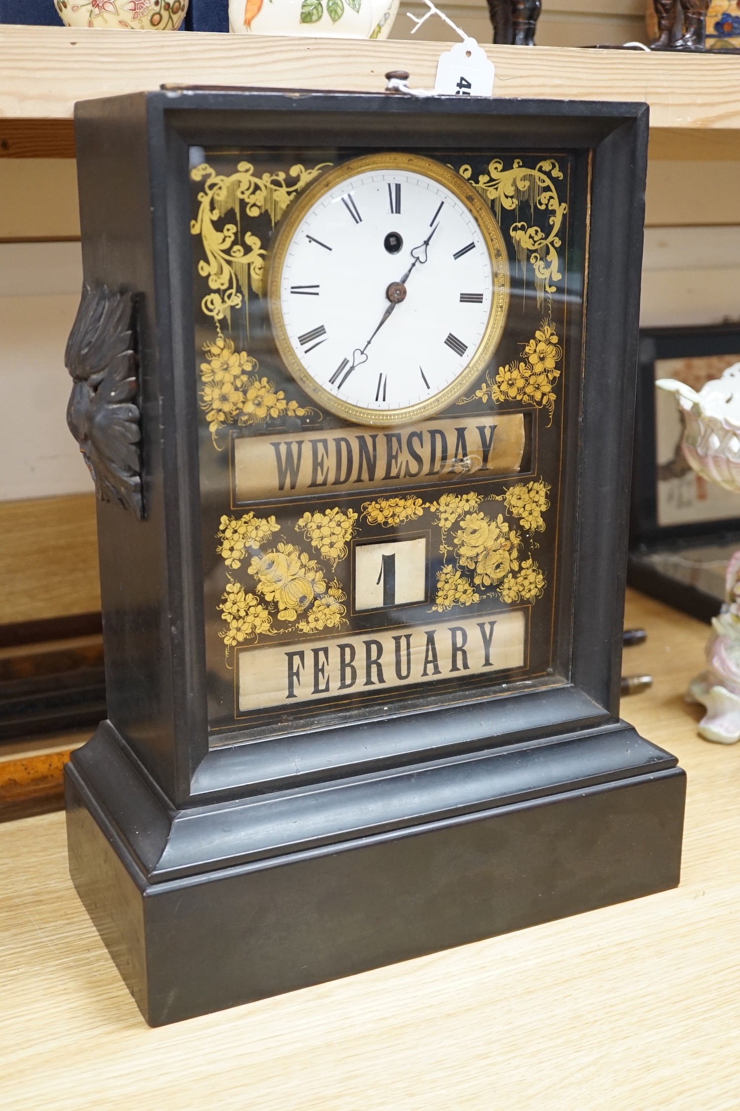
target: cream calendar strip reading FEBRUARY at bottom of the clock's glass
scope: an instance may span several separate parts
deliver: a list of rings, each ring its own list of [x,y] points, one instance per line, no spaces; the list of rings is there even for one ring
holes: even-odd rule
[[[429,622],[239,652],[239,709],[294,705],[408,683],[524,667],[525,612]]]

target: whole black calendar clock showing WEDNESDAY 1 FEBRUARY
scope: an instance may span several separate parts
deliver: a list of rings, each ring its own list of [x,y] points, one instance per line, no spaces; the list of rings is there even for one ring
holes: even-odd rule
[[[148,1021],[676,884],[618,705],[645,106],[163,89],[77,137],[70,869]]]

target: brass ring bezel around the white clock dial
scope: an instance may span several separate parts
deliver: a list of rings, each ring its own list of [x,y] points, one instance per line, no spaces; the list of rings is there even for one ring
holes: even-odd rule
[[[460,371],[455,381],[446,386],[434,398],[429,398],[426,401],[420,401],[415,406],[407,406],[403,409],[384,409],[382,411],[365,409],[361,406],[354,406],[348,401],[343,401],[318,384],[301,362],[287,337],[280,302],[280,287],[285,256],[287,254],[293,236],[305,214],[316,203],[318,198],[323,197],[331,189],[334,189],[335,186],[346,181],[348,178],[355,177],[357,173],[365,173],[368,170],[407,170],[408,172],[432,178],[433,181],[449,189],[460,203],[467,208],[480,228],[484,241],[488,248],[494,286],[486,330],[469,362]],[[509,266],[501,229],[494,219],[489,207],[476,193],[473,186],[454,170],[435,162],[430,158],[424,158],[420,154],[399,153],[364,154],[361,158],[351,159],[348,162],[328,170],[317,181],[308,186],[305,192],[290,206],[277,227],[271,244],[270,256],[267,303],[277,350],[298,386],[314,401],[323,406],[324,409],[327,409],[337,417],[343,417],[345,420],[354,421],[358,424],[388,426],[407,423],[424,417],[434,417],[455,401],[480,371],[486,369],[501,338],[509,302]]]

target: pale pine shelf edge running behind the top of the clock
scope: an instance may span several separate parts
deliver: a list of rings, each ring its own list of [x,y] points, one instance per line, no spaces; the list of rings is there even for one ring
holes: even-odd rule
[[[403,68],[410,71],[412,86],[428,88],[447,48],[443,42],[404,39],[371,42],[4,24],[0,121],[71,120],[77,100],[156,89],[162,83],[381,91],[385,72]],[[496,66],[499,97],[647,101],[655,128],[740,130],[740,57],[558,47],[491,46],[486,52]]]

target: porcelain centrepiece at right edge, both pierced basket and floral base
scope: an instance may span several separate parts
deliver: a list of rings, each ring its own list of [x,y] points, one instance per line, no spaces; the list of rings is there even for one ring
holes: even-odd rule
[[[670,378],[656,386],[675,394],[681,408],[687,462],[702,478],[740,494],[740,362],[698,393]],[[704,740],[734,744],[740,740],[740,551],[728,564],[724,589],[707,644],[708,667],[689,684],[687,699],[707,710],[699,724]]]

